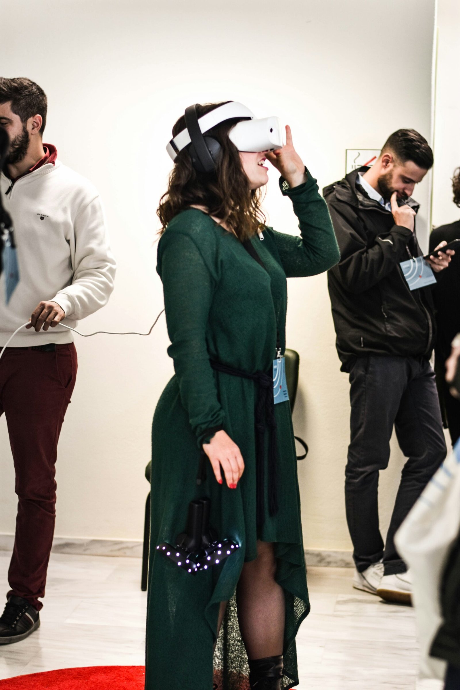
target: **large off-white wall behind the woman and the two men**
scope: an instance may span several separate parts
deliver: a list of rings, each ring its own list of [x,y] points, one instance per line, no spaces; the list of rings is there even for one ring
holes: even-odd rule
[[[43,86],[45,140],[106,204],[116,288],[81,329],[147,331],[162,307],[155,210],[170,170],[164,147],[186,106],[235,99],[260,116],[279,115],[323,186],[343,177],[346,148],[379,148],[401,127],[429,136],[433,21],[434,0],[16,0],[3,8],[1,73]],[[423,232],[427,184],[416,196]],[[297,232],[274,172],[266,209],[275,228]],[[163,317],[148,339],[77,337],[79,376],[59,445],[57,535],[141,538],[152,413],[172,375],[167,345]],[[310,446],[299,465],[305,545],[349,549],[348,382],[339,373],[325,275],[290,281],[288,346],[301,354],[294,426]],[[0,532],[11,533],[4,420],[0,450]],[[395,451],[382,479],[383,525],[400,469]]]

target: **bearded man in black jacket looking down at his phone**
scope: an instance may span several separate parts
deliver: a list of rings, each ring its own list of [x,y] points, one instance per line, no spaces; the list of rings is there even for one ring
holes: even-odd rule
[[[345,493],[353,585],[397,602],[410,602],[412,587],[394,533],[446,456],[428,361],[436,329],[431,286],[413,289],[417,285],[403,276],[406,266],[419,268],[414,260],[422,255],[414,227],[419,205],[410,195],[432,163],[426,139],[414,130],[398,130],[372,168],[354,170],[323,191],[341,252],[328,272],[328,286],[341,371],[350,374]],[[401,268],[401,262],[409,263]],[[446,254],[428,259],[435,273],[449,262]],[[422,275],[422,268],[417,273]],[[426,282],[434,283],[424,266],[424,279],[427,273]],[[408,460],[384,544],[377,494],[393,426]]]

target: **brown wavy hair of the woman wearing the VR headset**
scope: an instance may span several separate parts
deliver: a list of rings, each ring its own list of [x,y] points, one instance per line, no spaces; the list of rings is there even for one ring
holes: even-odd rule
[[[224,101],[228,102],[228,101]],[[206,103],[197,106],[197,115],[222,106],[222,103]],[[157,215],[161,221],[160,234],[175,215],[192,204],[205,206],[208,213],[225,222],[226,226],[244,242],[266,222],[260,204],[261,189],[251,190],[243,170],[239,152],[228,138],[228,132],[239,119],[226,120],[206,132],[221,144],[216,172],[197,172],[187,148],[181,150],[170,173],[168,191],[160,199]],[[186,128],[185,117],[179,117],[172,128],[172,136]]]

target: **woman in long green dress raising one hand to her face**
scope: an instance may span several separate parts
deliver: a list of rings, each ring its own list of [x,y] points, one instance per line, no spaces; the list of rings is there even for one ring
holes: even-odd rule
[[[198,117],[219,105],[198,106]],[[189,147],[179,152],[158,210],[157,270],[175,375],[152,424],[146,690],[299,682],[295,635],[310,604],[290,404],[272,406],[269,428],[256,406],[266,373],[272,395],[272,362],[285,349],[286,277],[328,270],[339,249],[290,128],[277,151],[239,152],[228,137],[234,124],[206,132],[221,144],[216,172],[197,172]],[[181,117],[173,136],[185,128]],[[281,173],[300,237],[264,224],[266,159]],[[203,451],[210,463],[197,486]],[[188,504],[203,496],[212,527],[240,548],[190,575],[154,546],[176,544]]]

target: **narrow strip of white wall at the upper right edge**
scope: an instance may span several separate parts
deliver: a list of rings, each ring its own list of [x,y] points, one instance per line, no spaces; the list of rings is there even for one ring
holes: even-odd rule
[[[434,115],[434,226],[452,223],[460,210],[452,203],[452,173],[460,166],[460,3],[438,0],[437,75]]]

